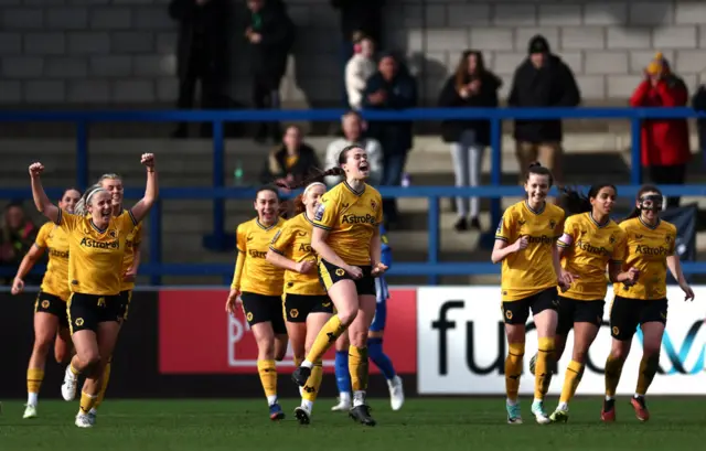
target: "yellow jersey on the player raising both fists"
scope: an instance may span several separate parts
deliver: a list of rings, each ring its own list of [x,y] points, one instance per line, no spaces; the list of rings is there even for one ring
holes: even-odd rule
[[[137,226],[131,212],[111,217],[105,230],[90,216],[58,211],[58,227],[68,236],[68,283],[74,293],[116,296],[122,286],[128,235]]]

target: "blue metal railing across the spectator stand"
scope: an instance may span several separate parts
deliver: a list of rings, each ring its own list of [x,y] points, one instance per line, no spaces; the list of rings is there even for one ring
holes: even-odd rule
[[[76,185],[88,186],[88,128],[97,122],[213,122],[213,187],[212,189],[162,189],[162,200],[203,198],[214,200],[213,235],[204,240],[208,247],[224,247],[228,241],[225,232],[225,200],[253,198],[254,191],[226,187],[223,173],[225,160],[224,122],[254,121],[333,121],[339,120],[344,110],[234,110],[234,111],[0,111],[0,122],[74,122],[76,124]],[[502,151],[501,122],[511,119],[628,119],[631,121],[632,161],[630,185],[619,186],[621,197],[634,197],[638,185],[642,183],[640,163],[640,122],[643,119],[678,119],[702,117],[703,112],[689,108],[496,108],[496,109],[409,109],[402,111],[363,111],[367,120],[410,120],[429,121],[446,119],[488,119],[491,124],[491,185],[480,187],[384,187],[385,197],[428,197],[429,198],[429,258],[424,264],[395,264],[391,275],[429,276],[429,282],[436,283],[438,276],[495,273],[499,268],[490,264],[441,264],[439,262],[439,200],[441,197],[480,196],[492,198],[491,216],[495,224],[500,221],[500,200],[507,196],[521,196],[520,186],[501,186]],[[58,196],[58,189],[50,190],[50,195]],[[665,195],[704,195],[706,185],[684,185],[664,187]],[[126,197],[141,197],[142,190],[127,190]],[[30,197],[30,190],[0,190],[0,198]],[[56,198],[56,197],[53,197]],[[170,265],[161,261],[161,208],[158,203],[150,214],[150,257],[140,272],[150,276],[153,284],[160,283],[161,276],[223,275],[229,277],[232,265]],[[706,264],[685,264],[689,273],[706,273]],[[38,268],[41,270],[41,268]],[[0,271],[2,275],[2,271]]]

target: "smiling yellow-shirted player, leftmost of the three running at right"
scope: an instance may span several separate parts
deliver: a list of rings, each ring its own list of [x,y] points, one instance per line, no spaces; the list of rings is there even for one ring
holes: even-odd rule
[[[556,239],[564,230],[564,211],[546,202],[554,184],[552,173],[538,163],[527,170],[527,198],[510,206],[495,233],[491,256],[502,266],[502,312],[509,353],[505,359],[507,422],[522,423],[518,389],[525,353],[525,323],[530,310],[539,339],[532,414],[541,425],[550,422],[544,410],[554,366],[554,337],[557,325],[557,284],[568,288],[570,276],[559,264]]]

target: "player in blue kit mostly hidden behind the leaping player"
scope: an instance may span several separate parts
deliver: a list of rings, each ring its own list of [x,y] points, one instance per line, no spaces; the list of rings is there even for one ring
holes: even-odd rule
[[[381,226],[381,237],[383,241],[382,262],[388,268],[393,264],[392,248],[387,241],[385,228]],[[395,373],[389,357],[383,352],[383,334],[385,332],[385,320],[387,319],[387,300],[389,290],[383,277],[375,279],[375,291],[377,296],[377,309],[375,318],[367,334],[367,355],[385,376],[389,387],[389,404],[393,410],[399,410],[405,404],[405,391],[402,378]],[[349,337],[347,333],[341,335],[335,343],[335,379],[339,387],[339,404],[331,410],[347,411],[351,408],[351,374],[349,372]]]

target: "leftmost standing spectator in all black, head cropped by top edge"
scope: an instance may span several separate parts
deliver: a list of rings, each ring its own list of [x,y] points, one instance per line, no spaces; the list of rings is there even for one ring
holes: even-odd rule
[[[176,75],[179,99],[176,106],[194,106],[196,82],[201,84],[201,108],[214,108],[224,94],[228,72],[228,0],[171,0],[169,15],[179,22],[176,44]],[[211,136],[211,124],[201,127],[201,136]],[[189,137],[189,125],[180,124],[174,138]]]

